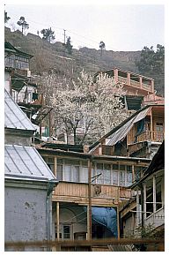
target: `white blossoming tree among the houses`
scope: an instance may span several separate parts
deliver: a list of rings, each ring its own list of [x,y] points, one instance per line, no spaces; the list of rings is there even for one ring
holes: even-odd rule
[[[55,79],[53,84],[49,102],[57,134],[73,134],[74,144],[91,144],[128,117],[121,102],[125,92],[107,75],[99,75],[93,83],[92,76],[81,72],[71,84],[57,84]]]

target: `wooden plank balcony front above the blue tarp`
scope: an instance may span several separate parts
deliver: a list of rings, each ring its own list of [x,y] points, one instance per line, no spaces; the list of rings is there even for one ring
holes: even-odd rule
[[[99,186],[99,193],[96,192]],[[131,197],[131,191],[125,187],[92,184],[92,205],[110,207],[117,204],[119,200],[127,200]],[[88,204],[88,184],[59,182],[55,187],[52,200],[62,202],[74,202],[77,204]]]

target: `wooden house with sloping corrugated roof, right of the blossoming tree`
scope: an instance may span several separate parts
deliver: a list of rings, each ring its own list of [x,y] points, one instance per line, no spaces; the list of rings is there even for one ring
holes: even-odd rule
[[[165,136],[165,106],[146,105],[90,147],[91,154],[152,158]]]

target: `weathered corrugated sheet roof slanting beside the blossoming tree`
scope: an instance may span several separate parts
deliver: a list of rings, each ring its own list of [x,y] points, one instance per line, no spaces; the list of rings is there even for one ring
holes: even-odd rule
[[[117,143],[121,139],[124,139],[128,134],[129,130],[132,128],[132,126],[136,122],[142,120],[150,109],[151,107],[147,109],[143,109],[143,111],[139,112],[135,117],[129,119],[129,121],[126,124],[122,125],[120,129],[118,129],[116,132],[111,134],[111,136],[109,136],[106,139],[106,145],[113,146],[115,143]]]

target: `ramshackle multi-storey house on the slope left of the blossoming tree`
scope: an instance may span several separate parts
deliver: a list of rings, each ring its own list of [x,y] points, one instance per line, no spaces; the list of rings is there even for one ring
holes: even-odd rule
[[[32,55],[12,46],[10,42],[4,42],[5,89],[33,124],[40,125],[41,137],[42,120],[47,116],[51,120],[52,108],[45,104],[43,94],[38,92],[38,86],[32,80],[30,71],[32,57]],[[50,121],[48,122],[50,123]],[[48,132],[49,136],[50,132],[51,129]]]

